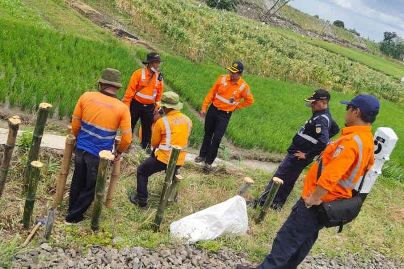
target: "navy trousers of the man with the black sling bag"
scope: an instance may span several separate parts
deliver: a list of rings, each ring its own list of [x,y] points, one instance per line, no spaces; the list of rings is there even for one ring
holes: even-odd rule
[[[300,198],[278,231],[271,253],[257,269],[292,269],[305,259],[324,226],[319,223],[317,208],[307,208]]]

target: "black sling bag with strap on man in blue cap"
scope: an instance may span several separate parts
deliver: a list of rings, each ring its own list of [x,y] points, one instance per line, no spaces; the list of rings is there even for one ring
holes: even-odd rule
[[[323,160],[320,158],[317,171],[317,180],[320,178],[322,166]],[[342,227],[345,224],[350,223],[358,216],[363,203],[359,193],[361,192],[366,173],[368,172],[368,166],[369,163],[365,168],[365,173],[363,174],[358,191],[355,189],[352,190],[351,198],[342,198],[329,202],[322,202],[317,206],[320,224],[327,228],[339,226],[338,233],[340,233],[342,232]]]

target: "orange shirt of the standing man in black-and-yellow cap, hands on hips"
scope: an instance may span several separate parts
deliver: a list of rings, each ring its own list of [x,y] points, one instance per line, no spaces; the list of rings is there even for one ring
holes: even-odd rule
[[[244,99],[240,102],[241,99]],[[237,82],[230,81],[230,75],[222,75],[205,97],[202,110],[207,110],[213,102],[219,110],[234,111],[254,103],[248,84],[240,78]]]

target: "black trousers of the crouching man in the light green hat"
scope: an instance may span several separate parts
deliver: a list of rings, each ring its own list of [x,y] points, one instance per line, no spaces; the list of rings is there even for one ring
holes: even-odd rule
[[[181,166],[175,167],[174,174],[177,174],[178,169]],[[157,159],[156,156],[150,156],[143,161],[137,168],[136,180],[137,180],[137,195],[140,198],[147,199],[147,182],[148,177],[160,172],[165,171],[167,169],[167,165],[160,160]]]

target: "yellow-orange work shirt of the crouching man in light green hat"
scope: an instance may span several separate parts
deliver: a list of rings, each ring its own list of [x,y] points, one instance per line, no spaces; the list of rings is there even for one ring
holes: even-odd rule
[[[151,135],[151,146],[159,149],[155,152],[157,159],[168,164],[171,145],[176,145],[182,148],[177,160],[177,166],[182,166],[191,129],[192,121],[178,110],[170,111],[165,117],[157,120]]]

